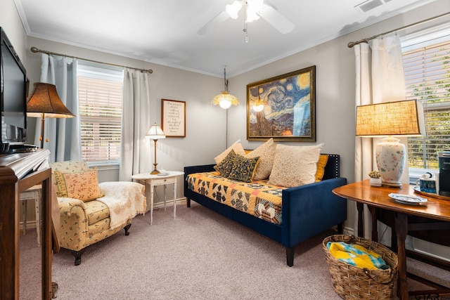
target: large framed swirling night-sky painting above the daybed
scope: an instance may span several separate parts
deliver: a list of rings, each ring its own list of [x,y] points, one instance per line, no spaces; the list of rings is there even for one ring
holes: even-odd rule
[[[316,141],[316,66],[247,85],[247,139]]]

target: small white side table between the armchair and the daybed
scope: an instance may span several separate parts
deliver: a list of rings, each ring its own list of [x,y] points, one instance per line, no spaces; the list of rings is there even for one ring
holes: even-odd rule
[[[131,176],[139,183],[150,185],[150,225],[153,224],[153,190],[157,185],[164,185],[164,211],[166,211],[166,187],[168,184],[174,185],[174,219],[176,218],[176,177],[183,175],[180,171],[163,171],[160,174],[152,175],[150,172]]]

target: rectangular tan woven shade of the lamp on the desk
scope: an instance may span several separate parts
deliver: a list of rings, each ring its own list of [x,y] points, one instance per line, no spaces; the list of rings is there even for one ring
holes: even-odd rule
[[[356,136],[421,136],[424,134],[423,105],[418,100],[356,107]]]

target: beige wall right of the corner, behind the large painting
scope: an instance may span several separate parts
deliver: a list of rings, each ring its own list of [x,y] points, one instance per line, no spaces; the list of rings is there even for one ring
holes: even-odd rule
[[[246,141],[247,84],[316,65],[317,143],[325,143],[323,153],[340,155],[341,176],[346,177],[349,183],[354,182],[355,63],[354,49],[347,47],[348,42],[373,37],[375,34],[410,25],[448,11],[450,11],[450,1],[436,1],[428,6],[409,11],[231,78],[229,90],[241,100],[241,104],[229,109],[229,143],[240,138],[245,148],[255,148],[259,145],[258,142]],[[443,18],[437,22],[449,22],[449,19]],[[421,27],[426,26],[430,26],[430,23]],[[418,27],[413,28],[413,30],[417,29]],[[287,144],[307,145],[308,143]],[[356,207],[354,202],[349,202],[347,211],[348,218],[345,226],[355,228]]]

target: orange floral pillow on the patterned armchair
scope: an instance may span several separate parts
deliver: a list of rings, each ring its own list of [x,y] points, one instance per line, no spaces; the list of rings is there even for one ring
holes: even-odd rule
[[[69,197],[83,202],[103,197],[98,187],[97,168],[80,173],[55,171],[60,197]]]

